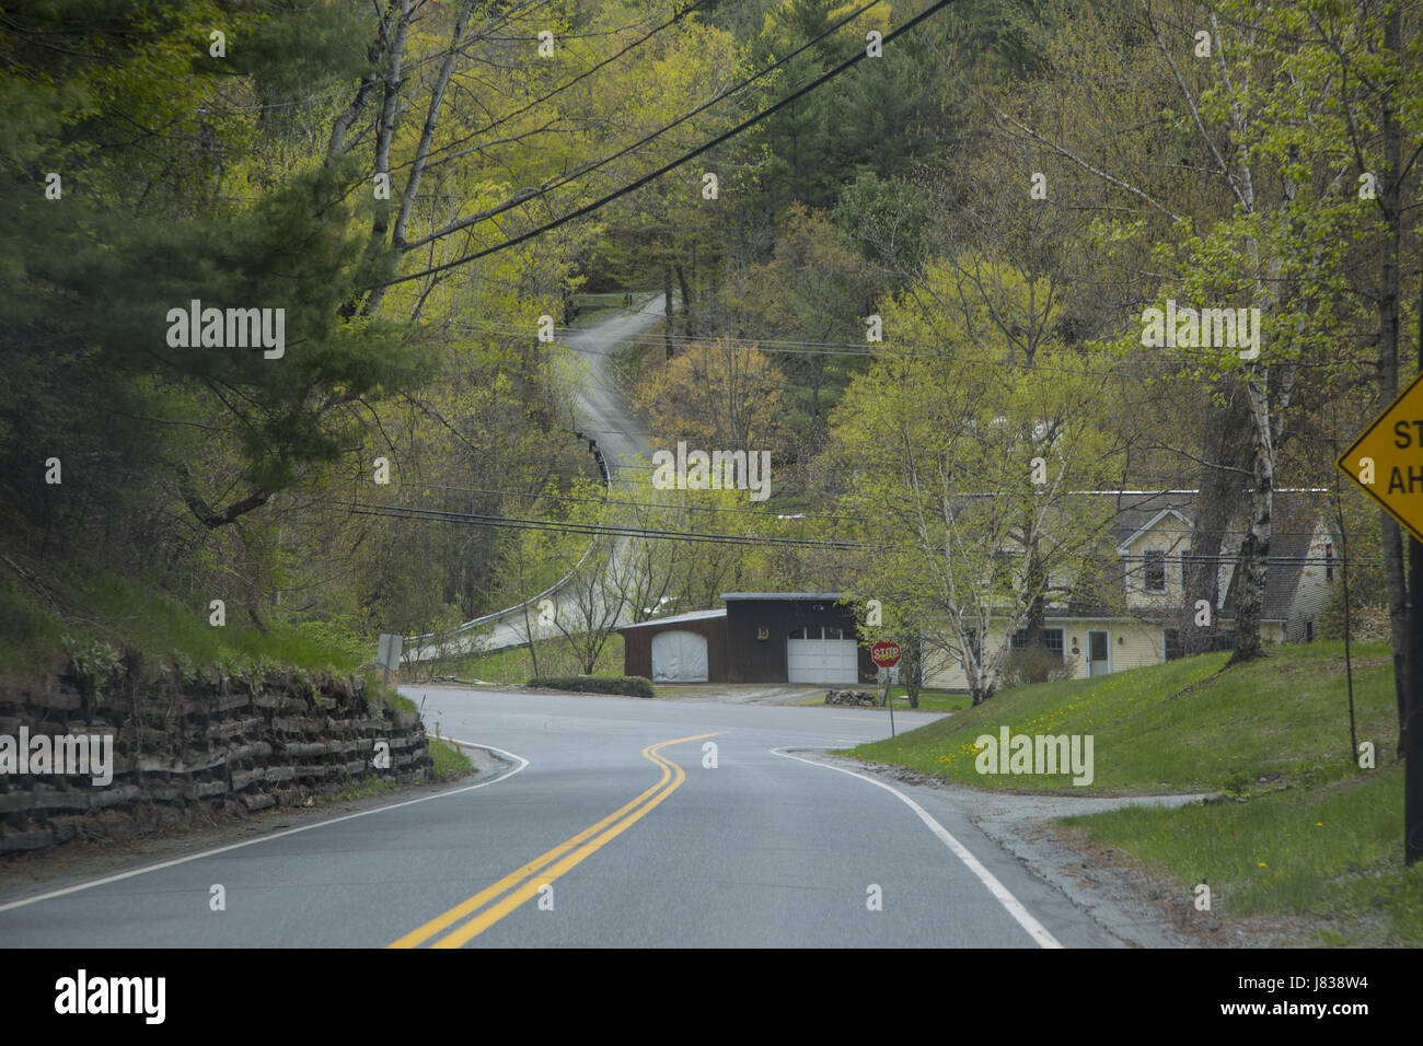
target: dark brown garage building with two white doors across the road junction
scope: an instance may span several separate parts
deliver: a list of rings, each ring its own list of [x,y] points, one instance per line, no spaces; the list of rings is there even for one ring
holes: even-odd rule
[[[623,672],[659,682],[874,682],[838,592],[723,592],[726,608],[625,625]]]

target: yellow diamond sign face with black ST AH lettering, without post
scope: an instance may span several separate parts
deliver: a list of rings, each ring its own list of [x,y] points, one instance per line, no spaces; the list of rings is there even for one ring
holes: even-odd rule
[[[1423,541],[1423,374],[1339,455],[1339,471]]]

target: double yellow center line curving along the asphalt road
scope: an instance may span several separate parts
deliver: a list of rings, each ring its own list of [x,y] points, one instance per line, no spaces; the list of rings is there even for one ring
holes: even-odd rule
[[[551,884],[569,868],[579,864],[583,858],[595,854],[606,842],[610,842],[613,838],[630,828],[636,821],[646,817],[647,811],[662,803],[662,800],[675,793],[687,778],[687,774],[676,763],[663,759],[662,754],[659,754],[659,750],[667,747],[669,744],[700,741],[703,737],[716,737],[716,734],[696,734],[693,737],[677,737],[672,741],[649,744],[642,750],[643,757],[650,759],[662,767],[662,780],[659,780],[655,786],[638,796],[638,798],[608,814],[608,817],[598,821],[598,824],[583,828],[583,831],[578,833],[571,840],[559,842],[546,854],[535,857],[522,868],[509,872],[492,887],[485,887],[468,901],[461,901],[443,915],[437,915],[423,926],[410,931],[398,941],[393,941],[388,946],[420,948],[431,938],[435,938],[438,934],[458,924],[461,919],[478,912],[475,918],[470,919],[457,929],[450,931],[444,936],[440,936],[430,944],[430,946],[460,948],[461,945],[468,944],[521,904],[535,897],[541,887]],[[531,878],[548,865],[552,867],[548,868],[546,872],[539,875],[536,879]]]

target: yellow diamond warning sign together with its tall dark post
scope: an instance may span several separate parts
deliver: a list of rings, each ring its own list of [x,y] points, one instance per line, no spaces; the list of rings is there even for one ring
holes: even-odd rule
[[[1423,861],[1423,373],[1335,463],[1409,534],[1403,683],[1403,860]],[[1355,759],[1359,753],[1355,753]]]

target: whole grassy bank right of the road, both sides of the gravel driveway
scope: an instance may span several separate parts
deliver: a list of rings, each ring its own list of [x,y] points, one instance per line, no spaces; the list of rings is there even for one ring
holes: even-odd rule
[[[1224,803],[1063,824],[1175,879],[1183,897],[1210,884],[1217,918],[1259,916],[1303,931],[1308,944],[1423,944],[1423,868],[1405,868],[1402,855],[1389,649],[1355,646],[1358,737],[1375,746],[1373,770],[1349,753],[1342,643],[1268,649],[1224,672],[1227,656],[1207,655],[1020,687],[852,754],[1007,791],[1224,793]],[[1094,781],[979,774],[975,740],[1002,726],[1091,734]]]

